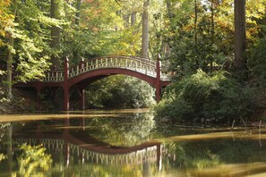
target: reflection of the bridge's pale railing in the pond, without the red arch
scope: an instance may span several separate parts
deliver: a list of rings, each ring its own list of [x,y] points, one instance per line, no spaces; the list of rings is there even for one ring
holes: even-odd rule
[[[74,145],[72,143],[67,143],[64,139],[14,139],[17,143],[27,143],[31,146],[37,146],[43,144],[47,149],[54,149],[56,151],[64,151],[66,149],[66,158],[71,155],[79,156],[82,159],[82,163],[92,162],[95,164],[108,164],[108,165],[118,165],[118,164],[144,164],[145,162],[160,162],[160,151],[161,147],[159,144],[150,143],[142,144],[140,146],[133,148],[120,148],[112,149],[106,148],[106,152],[99,148],[98,151],[90,150],[90,147],[82,147]],[[66,146],[66,147],[65,147]],[[92,145],[90,145],[92,146]],[[96,149],[94,149],[96,150]],[[66,162],[69,160],[66,159]]]

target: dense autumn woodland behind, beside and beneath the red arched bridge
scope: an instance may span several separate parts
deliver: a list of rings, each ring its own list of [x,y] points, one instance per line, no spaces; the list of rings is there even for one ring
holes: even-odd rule
[[[73,64],[101,55],[161,55],[175,74],[155,106],[158,116],[200,122],[253,118],[265,108],[265,5],[266,0],[2,0],[4,97],[12,98],[13,83],[41,80],[49,69],[62,68],[66,56]],[[149,106],[152,92],[147,83],[117,76],[87,89],[88,105],[116,105],[115,99],[124,103],[118,107]]]

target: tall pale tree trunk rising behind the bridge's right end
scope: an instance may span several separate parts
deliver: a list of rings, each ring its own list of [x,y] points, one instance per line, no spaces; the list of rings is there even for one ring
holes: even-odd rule
[[[149,4],[150,0],[146,0],[143,3],[142,13],[142,57],[148,58],[149,49]]]

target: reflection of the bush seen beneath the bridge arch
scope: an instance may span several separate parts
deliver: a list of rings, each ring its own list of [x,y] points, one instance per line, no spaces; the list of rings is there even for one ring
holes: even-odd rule
[[[154,128],[153,114],[131,114],[126,118],[95,118],[86,122],[90,136],[113,146],[134,146],[147,140]],[[94,126],[98,125],[98,126]],[[100,125],[100,126],[99,126]]]

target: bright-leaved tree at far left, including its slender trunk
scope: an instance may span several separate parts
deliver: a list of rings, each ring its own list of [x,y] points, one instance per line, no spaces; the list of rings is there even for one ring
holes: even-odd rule
[[[8,1],[4,1],[8,2]],[[13,1],[4,4],[1,16],[1,51],[6,58],[7,80],[4,85],[7,97],[12,97],[15,81],[26,82],[40,79],[49,67],[50,26],[59,26],[59,21],[48,17],[47,1]],[[0,4],[2,5],[2,4]],[[8,17],[8,18],[7,18]],[[13,78],[13,70],[16,77]]]

